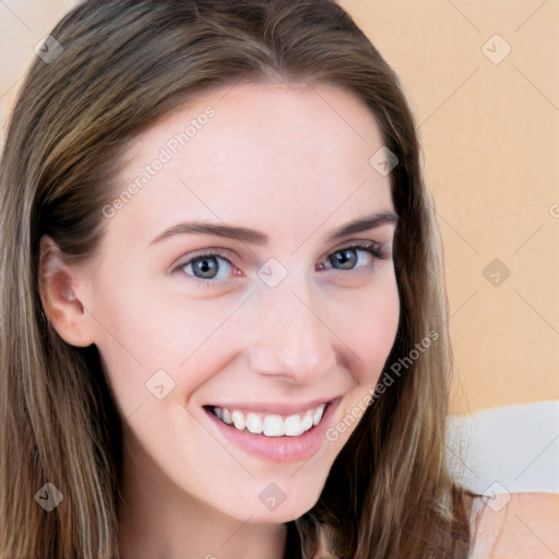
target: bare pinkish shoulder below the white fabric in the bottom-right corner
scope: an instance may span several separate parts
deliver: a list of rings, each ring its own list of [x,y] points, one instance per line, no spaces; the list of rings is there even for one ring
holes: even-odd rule
[[[557,559],[559,493],[499,495],[475,499],[472,559]]]

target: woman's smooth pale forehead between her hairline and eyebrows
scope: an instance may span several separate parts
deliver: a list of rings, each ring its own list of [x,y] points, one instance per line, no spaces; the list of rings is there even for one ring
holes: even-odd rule
[[[133,141],[119,192],[136,188],[115,222],[151,235],[187,218],[223,221],[300,240],[329,216],[334,226],[393,207],[390,178],[369,164],[381,146],[372,114],[350,93],[240,83]]]

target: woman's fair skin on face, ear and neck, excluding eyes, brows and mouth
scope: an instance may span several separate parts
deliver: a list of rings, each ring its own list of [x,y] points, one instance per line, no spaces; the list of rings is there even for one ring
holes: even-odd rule
[[[138,136],[122,188],[209,105],[207,124],[104,217],[92,259],[64,263],[41,242],[47,316],[68,343],[98,347],[123,417],[123,557],[282,558],[285,523],[317,502],[357,423],[310,460],[277,464],[226,443],[201,406],[341,395],[335,425],[376,385],[397,330],[394,224],[325,240],[394,212],[390,177],[369,164],[383,142],[368,108],[326,85],[214,91]],[[181,234],[151,245],[187,219],[270,240]],[[358,249],[353,269],[335,267],[329,255],[354,241],[378,243],[385,258]],[[226,259],[207,285],[187,265],[200,249]],[[287,274],[273,288],[258,275],[271,258]],[[175,386],[158,400],[145,383],[162,369]],[[275,510],[259,500],[270,483],[285,496]]]

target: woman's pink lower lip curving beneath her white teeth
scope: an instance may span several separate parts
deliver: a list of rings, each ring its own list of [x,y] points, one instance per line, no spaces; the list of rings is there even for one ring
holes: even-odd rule
[[[205,412],[226,441],[258,459],[288,464],[309,460],[319,451],[326,440],[325,431],[340,401],[341,397],[337,397],[330,402],[319,425],[297,437],[266,437],[247,430],[239,431],[233,425],[224,424],[210,409],[205,409]]]

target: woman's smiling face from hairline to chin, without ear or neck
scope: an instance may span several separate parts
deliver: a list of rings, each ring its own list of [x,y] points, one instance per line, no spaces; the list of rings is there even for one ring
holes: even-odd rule
[[[381,147],[348,93],[250,83],[132,142],[76,295],[146,480],[254,522],[316,503],[397,329]]]

